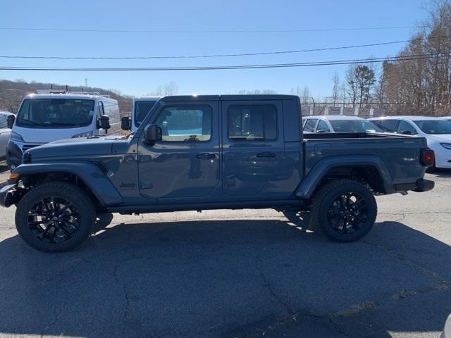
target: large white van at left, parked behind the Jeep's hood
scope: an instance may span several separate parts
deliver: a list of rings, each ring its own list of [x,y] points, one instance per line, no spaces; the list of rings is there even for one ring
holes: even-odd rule
[[[121,131],[118,101],[99,94],[30,94],[23,98],[12,127],[6,161],[11,170],[27,149],[74,137]]]

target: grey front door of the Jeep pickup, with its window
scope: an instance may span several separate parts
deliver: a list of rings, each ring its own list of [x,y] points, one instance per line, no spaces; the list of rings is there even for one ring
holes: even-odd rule
[[[168,102],[151,121],[163,139],[150,145],[140,137],[140,194],[159,204],[212,194],[220,182],[218,101]]]

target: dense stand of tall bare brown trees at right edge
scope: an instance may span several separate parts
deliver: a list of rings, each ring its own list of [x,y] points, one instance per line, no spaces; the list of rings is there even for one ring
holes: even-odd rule
[[[390,113],[440,115],[451,108],[451,1],[432,0],[425,9],[428,18],[398,54],[403,59],[383,68],[385,99],[395,103]]]

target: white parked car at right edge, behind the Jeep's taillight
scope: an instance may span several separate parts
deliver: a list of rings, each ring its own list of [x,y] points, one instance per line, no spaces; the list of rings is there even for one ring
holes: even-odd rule
[[[424,137],[435,151],[435,167],[451,168],[451,121],[431,116],[385,116],[370,118],[385,132]]]

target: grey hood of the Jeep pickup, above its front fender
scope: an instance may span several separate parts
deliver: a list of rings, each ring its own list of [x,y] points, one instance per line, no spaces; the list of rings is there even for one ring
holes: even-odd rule
[[[71,158],[76,156],[98,156],[112,153],[115,139],[100,138],[77,138],[61,139],[32,148],[26,153],[31,154],[32,160],[37,158]]]

